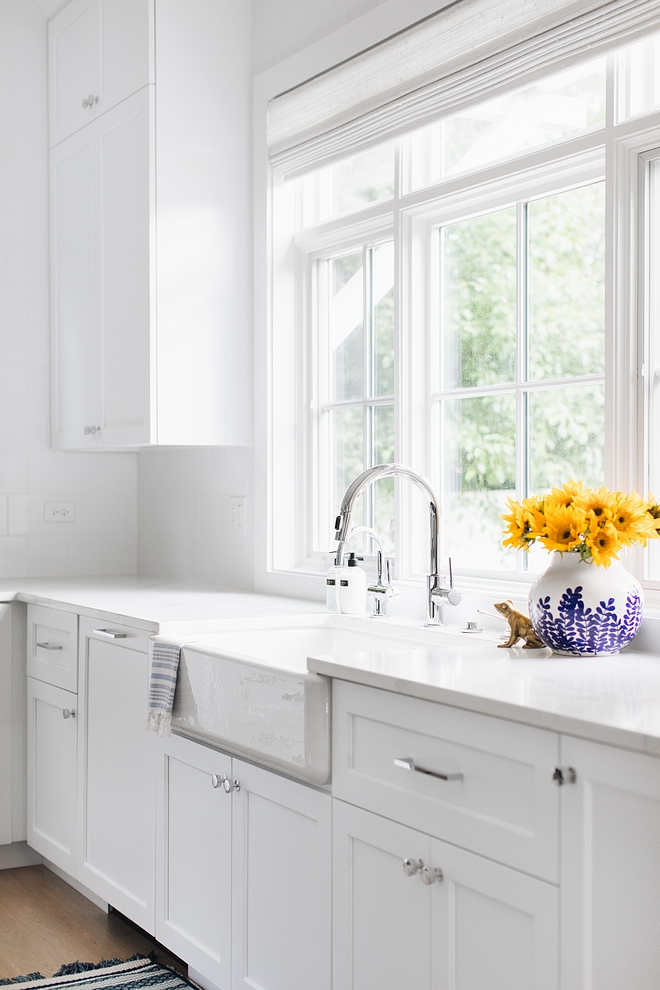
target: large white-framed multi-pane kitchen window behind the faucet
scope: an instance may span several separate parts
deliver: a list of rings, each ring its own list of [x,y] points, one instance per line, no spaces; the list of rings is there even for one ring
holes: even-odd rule
[[[389,460],[429,477],[443,557],[475,587],[546,565],[501,548],[509,495],[569,477],[659,493],[658,44],[549,73],[282,183],[292,208],[276,241],[293,246],[305,354],[298,565],[326,566],[344,491]],[[424,573],[417,495],[382,482],[356,522],[378,531],[399,578]],[[361,539],[353,546],[373,552]],[[660,589],[658,554],[645,577]]]

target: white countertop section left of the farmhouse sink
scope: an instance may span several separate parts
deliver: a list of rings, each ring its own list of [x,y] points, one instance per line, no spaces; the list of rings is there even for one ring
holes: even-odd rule
[[[161,635],[203,632],[214,622],[318,612],[317,602],[153,578],[15,578],[0,580],[0,602],[21,601],[125,622]]]

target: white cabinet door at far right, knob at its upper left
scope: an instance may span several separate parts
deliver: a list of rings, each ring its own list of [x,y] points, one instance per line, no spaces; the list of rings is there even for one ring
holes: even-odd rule
[[[562,736],[562,990],[660,983],[660,760]]]

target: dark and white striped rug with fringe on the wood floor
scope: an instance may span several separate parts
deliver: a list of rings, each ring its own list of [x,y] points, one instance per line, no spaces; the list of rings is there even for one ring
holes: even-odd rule
[[[44,977],[41,973],[16,976],[11,980],[0,980],[0,986],[17,986],[28,983],[30,990],[142,990],[154,987],[156,990],[189,990],[191,983],[178,973],[165,969],[144,956],[137,956],[127,962],[119,959],[103,959],[100,963],[70,963],[62,966],[54,976]]]

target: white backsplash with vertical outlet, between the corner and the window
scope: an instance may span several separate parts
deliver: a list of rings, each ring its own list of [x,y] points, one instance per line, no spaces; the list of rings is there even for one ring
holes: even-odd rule
[[[139,455],[139,573],[251,590],[254,478],[251,447],[176,447]],[[245,534],[231,527],[245,499]]]

